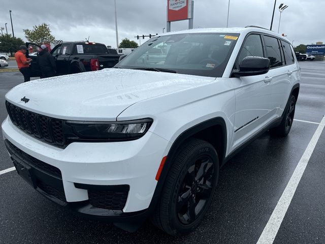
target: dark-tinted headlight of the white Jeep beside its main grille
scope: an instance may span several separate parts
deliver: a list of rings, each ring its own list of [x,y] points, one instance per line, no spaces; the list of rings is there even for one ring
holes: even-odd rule
[[[67,121],[66,124],[72,127],[73,134],[78,139],[116,141],[142,137],[150,128],[152,121],[151,118],[144,118],[114,122]]]

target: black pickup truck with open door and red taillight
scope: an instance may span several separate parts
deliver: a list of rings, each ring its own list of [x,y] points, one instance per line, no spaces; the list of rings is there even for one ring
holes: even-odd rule
[[[35,43],[26,43],[28,46],[37,46]],[[114,53],[115,52],[115,53]],[[56,74],[67,75],[80,72],[111,68],[118,63],[120,54],[116,50],[108,50],[104,44],[94,42],[65,42],[56,45],[51,54],[56,63]],[[37,65],[37,55],[29,55],[31,77],[40,77],[41,71]]]

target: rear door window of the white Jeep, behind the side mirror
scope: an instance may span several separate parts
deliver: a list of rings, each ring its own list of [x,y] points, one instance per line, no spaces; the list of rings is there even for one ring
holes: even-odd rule
[[[284,65],[284,60],[281,56],[281,49],[277,38],[264,36],[264,44],[266,56],[270,59],[270,68],[276,68]]]

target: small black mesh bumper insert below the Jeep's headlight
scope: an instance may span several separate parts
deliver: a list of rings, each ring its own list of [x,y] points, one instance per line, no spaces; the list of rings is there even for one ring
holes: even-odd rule
[[[128,191],[93,191],[88,190],[89,203],[94,207],[123,210]]]

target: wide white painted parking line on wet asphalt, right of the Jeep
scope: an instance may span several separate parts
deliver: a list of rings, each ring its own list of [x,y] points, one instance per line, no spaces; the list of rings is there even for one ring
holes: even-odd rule
[[[275,209],[272,212],[269,222],[265,226],[261,236],[259,236],[257,244],[272,244],[273,243],[275,236],[278,233],[280,225],[283,221],[285,213],[288,210],[290,202],[293,199],[293,196],[296,192],[299,181],[306,169],[308,161],[313,153],[313,150],[317,144],[317,141],[318,141],[320,134],[321,134],[322,130],[324,129],[324,127],[325,127],[325,116],[320,121],[319,126],[317,127],[313,137],[311,138],[311,140],[310,140],[303,156],[301,157],[293,175],[291,175],[291,178],[290,178],[288,184],[286,185],[280,200],[278,201]]]

